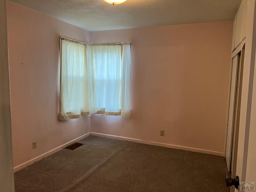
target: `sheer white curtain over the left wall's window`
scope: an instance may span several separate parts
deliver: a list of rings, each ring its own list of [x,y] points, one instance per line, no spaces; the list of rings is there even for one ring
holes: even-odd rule
[[[86,44],[61,40],[59,120],[90,114],[90,92]]]

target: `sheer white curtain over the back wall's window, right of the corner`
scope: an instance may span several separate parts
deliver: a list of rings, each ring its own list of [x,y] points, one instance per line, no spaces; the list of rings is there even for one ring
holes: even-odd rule
[[[90,58],[97,113],[130,118],[130,44],[92,45]]]

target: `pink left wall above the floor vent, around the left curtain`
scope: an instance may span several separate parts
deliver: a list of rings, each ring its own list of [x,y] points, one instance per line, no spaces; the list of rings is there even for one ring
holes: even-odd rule
[[[7,22],[16,167],[90,132],[88,116],[58,121],[59,36],[89,42],[90,32],[9,1]]]

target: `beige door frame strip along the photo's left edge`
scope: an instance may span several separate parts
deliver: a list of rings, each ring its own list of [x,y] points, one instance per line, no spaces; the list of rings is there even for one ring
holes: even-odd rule
[[[0,191],[14,192],[6,0],[0,0]]]

